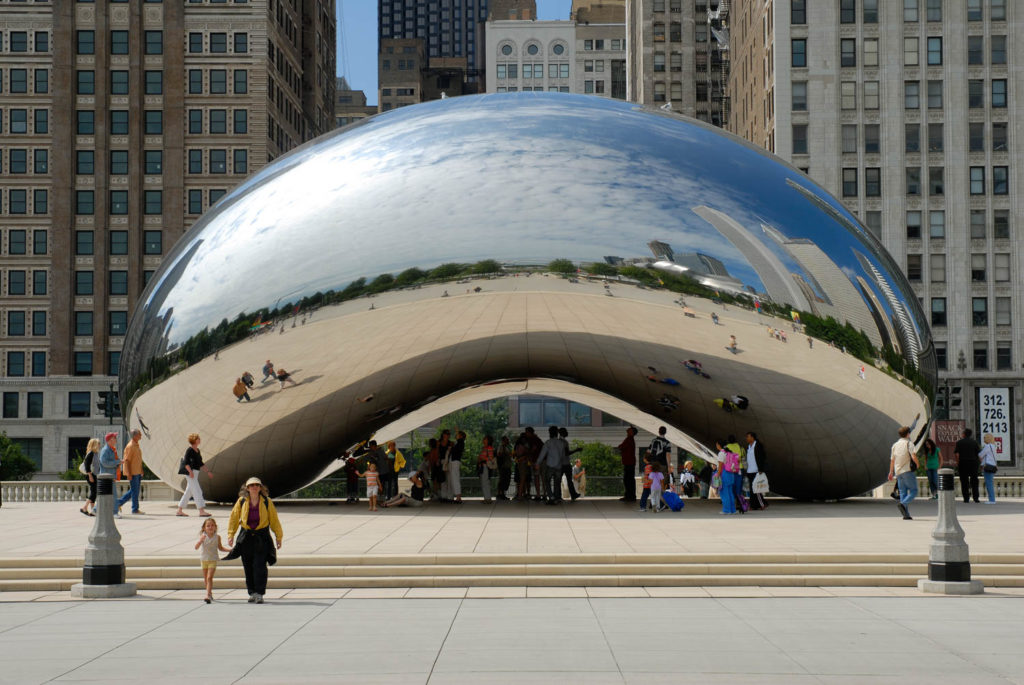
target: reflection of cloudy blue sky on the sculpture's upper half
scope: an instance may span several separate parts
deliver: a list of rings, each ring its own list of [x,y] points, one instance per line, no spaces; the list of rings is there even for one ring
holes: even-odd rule
[[[749,227],[795,271],[759,236],[762,220],[860,272],[850,248],[873,247],[822,230],[835,221],[785,183],[823,196],[800,176],[717,130],[603,98],[502,94],[403,108],[303,146],[224,198],[197,225],[208,226],[205,243],[163,304],[174,307],[177,338],[272,306],[283,280],[302,295],[450,261],[642,256],[653,239],[715,256],[763,290],[696,205]],[[254,254],[272,254],[281,272],[267,274],[246,258]]]

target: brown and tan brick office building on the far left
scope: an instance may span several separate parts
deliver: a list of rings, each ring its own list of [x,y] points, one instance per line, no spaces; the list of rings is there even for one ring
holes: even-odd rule
[[[334,126],[334,0],[0,4],[3,429],[44,475],[108,429],[163,256]]]

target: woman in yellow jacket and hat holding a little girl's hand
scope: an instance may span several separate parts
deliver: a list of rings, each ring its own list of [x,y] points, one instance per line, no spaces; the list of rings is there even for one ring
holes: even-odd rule
[[[239,533],[239,544],[234,544],[234,532],[242,526]],[[259,478],[255,476],[246,481],[239,491],[239,501],[231,509],[231,518],[227,522],[227,545],[232,547],[230,554],[224,557],[234,559],[242,557],[242,566],[246,571],[246,590],[249,591],[249,602],[263,603],[266,594],[267,564],[278,561],[278,553],[270,530],[278,539],[276,549],[285,533],[281,529],[278,510],[270,501],[269,491]]]

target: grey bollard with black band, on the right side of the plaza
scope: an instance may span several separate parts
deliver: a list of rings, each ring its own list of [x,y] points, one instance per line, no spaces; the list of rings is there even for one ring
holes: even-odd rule
[[[977,595],[985,591],[981,581],[971,580],[971,554],[964,528],[956,520],[952,469],[939,469],[939,518],[928,550],[928,579],[918,581],[918,590],[939,595]]]

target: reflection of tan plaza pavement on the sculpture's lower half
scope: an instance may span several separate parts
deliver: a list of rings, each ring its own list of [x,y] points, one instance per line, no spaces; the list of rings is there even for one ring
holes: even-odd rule
[[[472,293],[477,285],[480,294]],[[450,297],[440,296],[445,290]],[[776,460],[778,475],[850,481],[863,491],[886,468],[895,427],[922,411],[912,390],[874,369],[861,380],[859,360],[838,349],[820,342],[809,349],[796,334],[788,343],[769,337],[766,326],[787,327],[782,319],[693,297],[687,305],[696,316],[689,317],[667,291],[613,285],[610,292],[535,274],[360,298],[323,308],[295,328],[286,319],[284,334],[221,350],[219,359],[208,357],[140,397],[136,406],[151,428],[144,458],[175,481],[183,436],[199,432],[216,484],[233,493],[233,483],[252,473],[273,480],[293,456],[315,460],[318,472],[339,445],[382,428],[388,409],[402,404],[400,414],[409,402],[461,383],[528,371],[584,379],[649,412],[655,424],[664,417],[700,440],[757,430],[774,454],[794,455],[787,464]],[[730,335],[739,354],[726,349]],[[261,384],[266,358],[299,385]],[[711,380],[688,373],[685,358],[700,361]],[[679,385],[649,382],[649,366]],[[246,370],[257,380],[253,401],[238,403],[230,388]],[[665,393],[678,398],[678,411],[664,412]],[[733,393],[748,396],[751,409],[729,415],[713,404]],[[358,401],[371,394],[372,401]],[[871,464],[859,457],[867,452]],[[297,473],[288,475],[289,484],[295,484],[302,480]]]

